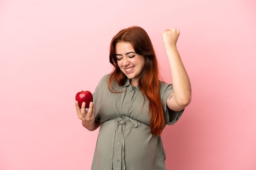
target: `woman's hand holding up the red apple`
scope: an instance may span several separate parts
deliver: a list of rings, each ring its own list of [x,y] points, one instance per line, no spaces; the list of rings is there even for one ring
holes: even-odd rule
[[[76,100],[76,113],[79,119],[83,122],[83,126],[88,130],[92,130],[91,127],[95,124],[94,118],[94,107],[95,104],[90,102],[88,111],[85,109],[85,102],[82,103],[81,109],[79,107],[78,101]]]

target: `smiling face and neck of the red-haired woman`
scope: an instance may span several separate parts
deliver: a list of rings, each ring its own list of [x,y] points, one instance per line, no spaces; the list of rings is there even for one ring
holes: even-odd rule
[[[120,70],[130,78],[130,85],[137,86],[139,75],[144,69],[145,57],[136,54],[132,45],[128,42],[118,42],[115,50]]]

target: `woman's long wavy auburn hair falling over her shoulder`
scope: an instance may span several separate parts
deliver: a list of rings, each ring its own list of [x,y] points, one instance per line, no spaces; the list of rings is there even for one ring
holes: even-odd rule
[[[116,44],[128,42],[132,45],[135,53],[145,57],[145,66],[139,76],[138,88],[149,100],[148,109],[151,111],[150,131],[152,135],[160,135],[164,129],[164,113],[161,98],[159,95],[159,70],[155,51],[146,31],[138,26],[123,29],[113,37],[110,44],[109,61],[114,66],[108,79],[108,89],[111,92],[119,93],[113,89],[111,82],[116,80],[121,86],[124,85],[127,77],[120,70],[117,64]],[[112,90],[111,90],[112,89]],[[145,101],[145,97],[144,97]]]

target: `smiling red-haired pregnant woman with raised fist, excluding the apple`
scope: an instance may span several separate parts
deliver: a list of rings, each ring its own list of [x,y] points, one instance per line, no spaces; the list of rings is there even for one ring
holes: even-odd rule
[[[173,84],[159,81],[153,45],[143,28],[121,30],[110,44],[113,71],[103,76],[94,101],[76,111],[83,126],[100,126],[92,170],[165,170],[161,133],[191,101],[189,77],[176,48],[180,32],[162,33]]]

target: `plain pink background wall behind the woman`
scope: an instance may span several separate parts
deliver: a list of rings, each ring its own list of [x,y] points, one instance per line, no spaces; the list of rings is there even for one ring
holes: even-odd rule
[[[74,97],[94,92],[112,37],[133,25],[168,83],[161,33],[181,32],[193,98],[162,135],[167,169],[256,169],[254,0],[0,0],[0,170],[90,169],[98,130]]]

